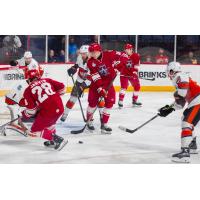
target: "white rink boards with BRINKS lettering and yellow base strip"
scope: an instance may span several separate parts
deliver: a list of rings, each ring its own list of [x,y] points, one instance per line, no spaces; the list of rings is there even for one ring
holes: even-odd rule
[[[66,92],[70,92],[73,86],[71,78],[67,74],[67,69],[72,64],[41,64],[44,67],[45,78],[53,78],[61,81],[66,86]],[[5,70],[6,65],[0,66],[0,96],[12,89],[12,87],[21,81],[24,81],[23,71],[20,69]],[[182,65],[183,71],[188,73],[194,80],[200,83],[200,65]],[[163,92],[173,91],[174,87],[167,78],[166,65],[141,64],[139,68],[139,78],[141,83],[141,91]],[[114,82],[116,91],[120,89],[119,77]],[[133,88],[129,87],[128,91]]]

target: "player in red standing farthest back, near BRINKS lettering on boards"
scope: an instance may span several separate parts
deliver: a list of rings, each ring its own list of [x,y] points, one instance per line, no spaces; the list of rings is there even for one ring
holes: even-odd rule
[[[138,92],[140,90],[140,81],[138,78],[138,66],[140,65],[140,56],[137,53],[133,52],[132,44],[124,45],[124,54],[126,56],[121,57],[123,59],[122,63],[124,64],[123,70],[120,73],[120,84],[121,90],[119,92],[119,108],[123,107],[123,100],[125,92],[128,88],[129,82],[134,88],[132,104],[134,106],[141,106],[142,104],[138,101]]]

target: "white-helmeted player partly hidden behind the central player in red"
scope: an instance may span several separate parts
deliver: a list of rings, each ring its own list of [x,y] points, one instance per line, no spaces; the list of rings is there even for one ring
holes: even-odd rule
[[[77,62],[74,66],[68,69],[68,75],[73,77],[73,75],[78,71],[76,82],[72,88],[71,96],[66,103],[65,111],[61,117],[61,121],[65,121],[70,110],[73,108],[77,99],[81,97],[83,91],[89,87],[91,83],[91,77],[89,74],[89,69],[87,68],[88,61],[88,45],[83,45],[80,48],[80,55],[77,58]]]

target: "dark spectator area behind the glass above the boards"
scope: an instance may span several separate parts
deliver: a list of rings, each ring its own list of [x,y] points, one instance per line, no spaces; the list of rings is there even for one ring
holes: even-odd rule
[[[93,42],[100,42],[105,50],[118,51],[122,51],[125,43],[131,43],[141,55],[141,63],[145,64],[166,64],[174,59],[182,64],[200,64],[198,35],[1,35],[0,63],[7,64],[26,50],[30,50],[39,62],[75,62],[80,46]]]

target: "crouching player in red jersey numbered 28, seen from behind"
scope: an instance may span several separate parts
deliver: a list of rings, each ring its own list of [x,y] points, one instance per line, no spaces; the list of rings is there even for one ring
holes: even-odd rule
[[[22,117],[35,116],[29,135],[42,137],[47,140],[45,146],[60,149],[66,141],[56,135],[55,124],[64,111],[60,95],[64,94],[65,86],[49,78],[40,78],[35,69],[27,72],[27,78],[29,86],[21,101],[26,106]]]

